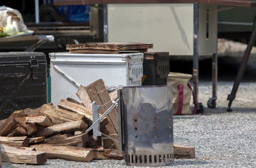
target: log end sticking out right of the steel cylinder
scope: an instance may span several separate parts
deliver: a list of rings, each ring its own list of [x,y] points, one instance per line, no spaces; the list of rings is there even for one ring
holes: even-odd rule
[[[195,158],[195,146],[173,144],[174,158]]]

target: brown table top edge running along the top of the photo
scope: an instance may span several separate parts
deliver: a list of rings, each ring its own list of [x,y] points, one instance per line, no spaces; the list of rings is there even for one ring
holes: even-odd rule
[[[120,3],[206,3],[226,6],[256,7],[256,0],[54,0],[54,5]]]

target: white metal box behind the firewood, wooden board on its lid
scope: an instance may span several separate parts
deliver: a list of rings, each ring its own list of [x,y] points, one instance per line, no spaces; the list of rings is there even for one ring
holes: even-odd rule
[[[51,58],[51,100],[74,98],[79,85],[103,79],[106,86],[141,86],[143,53],[70,54],[49,53]]]

